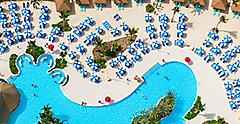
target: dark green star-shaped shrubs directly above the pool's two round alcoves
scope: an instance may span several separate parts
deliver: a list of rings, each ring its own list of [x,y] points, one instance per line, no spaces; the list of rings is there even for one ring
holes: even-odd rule
[[[36,62],[37,58],[40,55],[44,54],[45,51],[44,51],[43,47],[36,45],[36,41],[29,41],[27,49],[26,49],[26,53],[32,55],[34,58],[34,62]]]

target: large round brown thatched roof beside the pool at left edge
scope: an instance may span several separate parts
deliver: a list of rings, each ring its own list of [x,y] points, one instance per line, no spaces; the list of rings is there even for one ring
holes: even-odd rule
[[[7,122],[8,116],[19,102],[19,93],[14,85],[6,82],[0,83],[0,124]]]

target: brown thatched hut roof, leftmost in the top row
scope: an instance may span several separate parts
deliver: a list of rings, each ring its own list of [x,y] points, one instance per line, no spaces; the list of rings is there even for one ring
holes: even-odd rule
[[[55,0],[57,12],[70,11],[70,1],[69,0]]]

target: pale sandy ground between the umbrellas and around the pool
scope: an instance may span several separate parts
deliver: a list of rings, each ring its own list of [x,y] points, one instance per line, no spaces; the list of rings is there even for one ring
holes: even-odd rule
[[[148,1],[150,2],[150,1]],[[50,13],[50,21],[49,24],[56,23],[60,21],[58,17],[58,13],[55,11],[55,5],[52,2],[43,2],[44,4],[47,4],[49,8],[51,8],[52,12]],[[6,4],[1,4],[3,7],[6,7]],[[22,5],[21,2],[19,2],[19,5]],[[128,4],[128,7],[125,8],[123,11],[117,10],[117,6],[113,3],[111,5],[109,4],[106,8],[103,8],[103,11],[96,11],[92,6],[90,8],[87,8],[86,12],[80,12],[79,7],[75,5],[73,15],[71,15],[70,18],[70,25],[71,26],[77,26],[80,22],[84,20],[85,17],[91,16],[96,20],[96,25],[91,27],[89,31],[85,32],[87,34],[88,32],[94,31],[95,28],[99,25],[102,26],[102,22],[107,20],[110,22],[112,27],[119,27],[121,22],[126,22],[130,27],[138,27],[139,28],[139,37],[145,39],[147,38],[147,33],[145,32],[145,26],[147,23],[144,21],[144,15],[145,12],[145,5],[143,4],[142,7],[138,7],[135,5],[135,2],[132,1]],[[210,5],[209,5],[210,6]],[[171,8],[174,7],[173,3],[167,3],[163,4],[162,10],[159,10],[158,14],[166,13],[169,17],[172,16],[173,12],[171,11]],[[207,32],[210,31],[212,27],[214,27],[218,22],[218,17],[212,15],[212,8],[207,7],[200,15],[194,15],[194,13],[191,13],[193,11],[193,8],[181,8],[181,12],[186,13],[188,16],[187,25],[189,26],[187,32],[187,37],[184,39],[190,47],[185,48],[178,48],[175,46],[170,47],[164,47],[157,51],[151,51],[150,54],[145,55],[143,58],[143,61],[137,64],[134,64],[134,68],[127,69],[128,75],[123,77],[122,80],[119,80],[115,76],[116,69],[112,69],[111,67],[107,67],[104,69],[104,73],[99,72],[97,75],[99,75],[102,78],[102,82],[100,84],[95,84],[93,82],[90,82],[89,79],[83,79],[79,72],[76,72],[73,65],[69,64],[64,71],[70,76],[70,80],[68,84],[64,87],[62,87],[63,93],[72,101],[81,103],[82,101],[86,102],[87,105],[90,106],[101,106],[102,104],[98,103],[98,100],[104,101],[104,98],[106,96],[111,96],[115,102],[122,100],[123,98],[127,97],[129,94],[131,94],[139,85],[140,83],[137,83],[133,81],[133,77],[135,75],[143,75],[149,68],[152,67],[157,62],[162,63],[162,59],[164,58],[166,61],[179,61],[184,62],[184,58],[186,56],[189,56],[192,61],[193,65],[190,65],[189,67],[193,70],[197,83],[198,83],[198,95],[202,97],[203,103],[206,103],[206,110],[202,112],[199,116],[197,116],[195,119],[190,121],[189,123],[196,124],[203,122],[206,119],[212,119],[215,118],[217,115],[223,116],[226,118],[226,120],[231,124],[240,123],[240,120],[238,119],[239,112],[233,112],[230,110],[230,107],[228,105],[228,100],[226,96],[226,92],[223,86],[223,81],[219,78],[217,73],[210,67],[211,63],[206,63],[203,61],[203,58],[200,58],[199,56],[193,54],[191,51],[191,48],[193,47],[203,47],[202,41],[207,37]],[[33,18],[37,19],[39,15],[39,10],[34,10]],[[118,13],[122,20],[119,22],[115,21],[113,16]],[[152,14],[155,21],[154,25],[158,28],[159,32],[159,22],[158,22],[158,16]],[[176,15],[175,20],[177,20],[179,14]],[[239,20],[232,18],[232,13],[229,12],[227,15],[230,20],[227,24],[221,24],[219,26],[220,29],[225,31],[236,31],[237,37],[234,38],[234,43],[230,46],[232,48],[234,45],[239,45],[239,31],[240,23]],[[38,27],[38,23],[36,20],[34,20],[34,25]],[[174,41],[176,39],[176,23],[169,23],[170,29],[168,32],[171,34],[170,40]],[[2,30],[0,28],[0,30]],[[33,32],[36,32],[37,28],[34,29]],[[47,28],[45,32],[47,34],[50,33],[51,28]],[[220,32],[220,39],[223,38],[224,35],[228,34],[225,31]],[[59,41],[66,41],[65,37],[68,33],[64,34],[64,37],[59,37]],[[123,37],[125,34],[122,32],[122,35],[119,37]],[[83,40],[86,35],[84,35],[82,38],[79,38],[77,42],[71,43],[70,49],[76,50],[76,45],[83,44]],[[116,37],[116,38],[119,38]],[[110,41],[112,39],[115,39],[111,36],[109,31],[106,31],[106,34],[101,36],[101,38],[104,39],[104,41]],[[154,40],[152,40],[154,41]],[[147,40],[147,43],[151,43],[151,40]],[[44,45],[48,41],[47,40],[37,40],[37,44]],[[67,41],[66,41],[67,42]],[[55,46],[58,46],[59,42],[54,43]],[[20,46],[21,49],[17,48],[17,45]],[[7,79],[11,73],[8,68],[8,58],[12,53],[21,54],[26,48],[26,42],[19,43],[17,45],[11,46],[10,51],[6,54],[0,55],[0,73],[3,74],[4,78]],[[93,49],[93,46],[87,47],[88,52],[86,55],[80,56],[79,60],[85,64],[85,57],[92,55],[91,50]],[[209,51],[208,48],[204,48],[207,52]],[[47,52],[50,52],[46,49]],[[224,49],[223,51],[226,51]],[[128,58],[130,58],[130,55],[125,52]],[[54,56],[57,56],[56,54],[53,54]],[[239,56],[237,56],[237,59],[239,59]],[[236,59],[236,60],[237,60]],[[69,63],[72,63],[73,61],[70,60],[70,58],[67,57],[67,60]],[[215,61],[219,61],[219,57],[216,57]],[[233,62],[233,61],[232,61]],[[226,64],[223,64],[220,62],[220,64],[225,67]],[[123,66],[123,65],[122,65]],[[90,71],[90,68],[85,66],[85,68]],[[240,72],[238,71],[235,75],[231,75],[229,78],[237,78],[239,76]],[[111,78],[113,79],[111,82],[108,82],[107,80]],[[132,80],[131,82],[126,81],[126,78],[129,78]],[[107,104],[104,104],[107,105]]]

